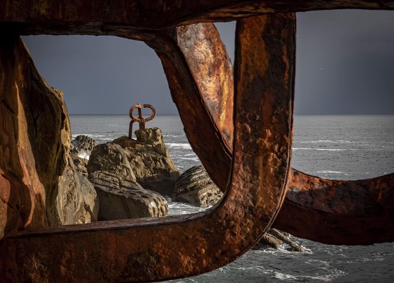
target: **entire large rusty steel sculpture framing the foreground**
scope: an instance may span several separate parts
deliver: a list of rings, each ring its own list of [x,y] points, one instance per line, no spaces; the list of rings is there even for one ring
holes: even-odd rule
[[[232,262],[271,226],[329,244],[394,240],[394,173],[332,181],[290,167],[295,12],[392,10],[394,1],[21,0],[0,6],[0,28],[16,35],[145,41],[162,61],[193,150],[226,192],[202,213],[21,230],[0,242],[4,281],[197,275]],[[218,20],[237,20],[234,70],[210,23]]]

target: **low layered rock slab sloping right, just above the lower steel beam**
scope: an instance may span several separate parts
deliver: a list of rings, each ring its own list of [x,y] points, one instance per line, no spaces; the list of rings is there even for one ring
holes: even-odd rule
[[[146,190],[135,181],[122,180],[106,171],[90,175],[99,197],[98,220],[139,217],[162,217],[168,213],[167,201],[158,193]]]

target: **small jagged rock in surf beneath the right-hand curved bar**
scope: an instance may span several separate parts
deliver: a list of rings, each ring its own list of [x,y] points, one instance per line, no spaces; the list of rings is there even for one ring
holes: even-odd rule
[[[278,249],[280,245],[287,244],[286,250],[294,252],[303,252],[304,249],[296,242],[290,239],[290,235],[286,232],[279,231],[278,229],[269,229],[261,238],[260,242],[256,245],[257,248],[272,247]]]

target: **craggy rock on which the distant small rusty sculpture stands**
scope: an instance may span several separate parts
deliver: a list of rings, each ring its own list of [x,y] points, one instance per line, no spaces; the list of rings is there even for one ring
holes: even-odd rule
[[[159,128],[136,130],[137,140],[120,137],[113,142],[124,148],[136,180],[145,189],[171,195],[180,173],[173,164]]]

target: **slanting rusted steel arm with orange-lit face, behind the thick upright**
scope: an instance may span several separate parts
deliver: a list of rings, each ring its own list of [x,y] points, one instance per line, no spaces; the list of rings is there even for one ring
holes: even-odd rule
[[[180,42],[185,38],[191,40],[190,45],[187,42]],[[211,38],[216,41],[212,41]],[[178,107],[189,143],[212,180],[225,189],[230,172],[231,158],[228,152],[229,144],[226,143],[220,131],[223,130],[223,133],[226,130],[227,132],[233,131],[233,115],[231,112],[230,120],[229,113],[225,119],[227,123],[222,126],[220,115],[223,113],[226,115],[226,111],[232,111],[233,108],[227,110],[227,105],[231,104],[231,107],[233,107],[232,99],[234,97],[233,88],[225,88],[220,83],[221,78],[228,84],[232,83],[232,70],[229,71],[227,64],[223,63],[226,50],[216,29],[213,24],[209,23],[178,27],[150,33],[150,36],[145,35],[144,41],[155,49],[162,61],[171,96]],[[183,51],[192,56],[185,57]],[[206,55],[204,56],[207,60],[206,68],[198,66],[202,60],[193,56],[194,51]],[[189,68],[188,64],[192,67]],[[210,83],[209,88],[201,87],[208,83]],[[207,90],[212,94],[207,94]],[[218,103],[220,110],[217,110],[217,112],[207,111],[210,104],[206,102],[209,101],[209,98],[203,100],[202,91],[208,97],[222,97],[211,101],[211,104]],[[231,93],[231,97],[226,96],[226,93]],[[220,113],[220,115],[216,113]],[[214,123],[214,119],[218,122]],[[231,135],[232,137],[233,135]],[[224,158],[223,155],[227,157]],[[215,160],[214,164],[212,160]],[[227,173],[225,178],[215,178],[217,168],[221,168]]]

